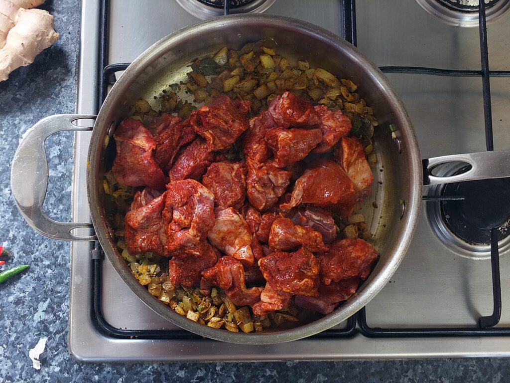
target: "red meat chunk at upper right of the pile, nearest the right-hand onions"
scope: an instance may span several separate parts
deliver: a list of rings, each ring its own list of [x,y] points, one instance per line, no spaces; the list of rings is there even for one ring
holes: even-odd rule
[[[330,111],[325,105],[314,106],[319,116],[319,128],[322,131],[322,140],[313,150],[314,153],[325,153],[340,140],[349,134],[352,129],[350,119],[341,110]]]

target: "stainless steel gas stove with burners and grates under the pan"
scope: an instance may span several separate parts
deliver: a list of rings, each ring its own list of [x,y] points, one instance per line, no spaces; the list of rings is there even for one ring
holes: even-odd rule
[[[221,0],[83,0],[77,112],[97,113],[109,84],[127,63],[173,31],[225,12],[265,12],[334,32],[381,67],[411,116],[423,158],[508,149],[510,1],[486,3],[481,22],[487,22],[487,34],[478,28],[477,1],[234,0],[225,6]],[[490,66],[483,48],[480,54],[480,40],[487,41]],[[75,222],[90,221],[85,181],[89,140],[90,133],[75,133]],[[441,172],[458,170],[453,164]],[[480,195],[505,189],[506,181],[501,182],[480,187],[480,194],[470,198],[476,204]],[[94,244],[72,243],[70,352],[84,362],[510,355],[508,217],[502,214],[497,230],[482,228],[474,240],[471,234],[464,237],[464,221],[449,222],[455,205],[448,199],[465,198],[459,215],[480,226],[477,213],[469,214],[473,202],[466,189],[472,187],[425,186],[429,200],[388,285],[344,323],[277,345],[222,343],[177,328],[127,288]],[[487,200],[496,205],[478,211],[510,210],[507,196],[491,193]],[[496,249],[491,234],[492,242],[495,235],[499,240],[499,257],[491,256]]]

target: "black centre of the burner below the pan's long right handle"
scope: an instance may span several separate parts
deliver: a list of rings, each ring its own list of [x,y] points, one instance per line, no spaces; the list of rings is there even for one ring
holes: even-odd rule
[[[510,234],[510,180],[487,179],[450,183],[442,194],[464,196],[463,201],[443,201],[441,215],[450,230],[464,241],[490,244],[491,229],[502,240]]]

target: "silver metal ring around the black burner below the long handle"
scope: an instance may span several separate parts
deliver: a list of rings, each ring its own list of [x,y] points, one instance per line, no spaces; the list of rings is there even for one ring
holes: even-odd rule
[[[438,176],[453,175],[465,166],[464,163],[448,163],[441,166],[437,170]],[[430,196],[441,196],[446,184],[438,184],[429,186],[428,195]],[[490,244],[477,244],[474,242],[468,242],[455,234],[453,230],[448,226],[447,220],[443,216],[441,202],[427,202],[426,203],[426,214],[428,222],[432,228],[432,231],[436,234],[438,239],[445,245],[449,250],[470,259],[490,259],[491,258],[491,246]],[[503,224],[506,227],[508,222]],[[505,227],[502,228],[504,231]],[[501,230],[500,230],[501,231]],[[503,255],[510,250],[510,235],[506,235],[500,241],[498,241],[499,254]]]

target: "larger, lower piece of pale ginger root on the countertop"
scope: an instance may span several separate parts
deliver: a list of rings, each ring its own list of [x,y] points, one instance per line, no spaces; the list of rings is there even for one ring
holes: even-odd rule
[[[17,0],[16,3],[37,4],[28,0]],[[34,62],[35,57],[59,37],[53,29],[53,16],[47,11],[19,8],[15,25],[9,30],[6,43],[0,49],[0,81],[7,80],[14,69]]]

